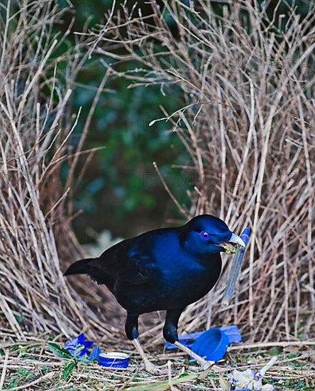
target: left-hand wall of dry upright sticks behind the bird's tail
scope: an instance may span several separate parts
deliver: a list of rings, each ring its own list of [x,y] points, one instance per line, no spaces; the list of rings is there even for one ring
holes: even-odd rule
[[[78,117],[71,120],[67,113],[84,61],[82,45],[78,41],[72,52],[56,54],[69,31],[65,36],[53,33],[61,16],[55,1],[23,1],[16,8],[8,1],[4,15],[0,23],[1,329],[17,338],[28,333],[73,336],[82,330],[89,336],[106,336],[109,333],[94,311],[62,277],[65,264],[60,267],[60,261],[73,262],[81,252],[70,228],[69,198],[79,154],[71,143]],[[68,165],[65,188],[60,183],[62,164]]]

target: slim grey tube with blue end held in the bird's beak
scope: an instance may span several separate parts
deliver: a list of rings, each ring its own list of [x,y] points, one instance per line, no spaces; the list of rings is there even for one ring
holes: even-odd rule
[[[241,234],[241,239],[243,239],[243,242],[245,243],[245,246],[247,247],[248,240],[250,236],[250,230],[249,228],[245,228]],[[231,267],[231,272],[228,276],[228,283],[226,284],[226,290],[224,291],[222,304],[221,306],[227,307],[230,303],[231,297],[233,296],[236,283],[238,282],[238,274],[240,274],[241,266],[245,254],[246,247],[238,245],[238,248],[236,250],[236,254],[233,259],[233,264]]]

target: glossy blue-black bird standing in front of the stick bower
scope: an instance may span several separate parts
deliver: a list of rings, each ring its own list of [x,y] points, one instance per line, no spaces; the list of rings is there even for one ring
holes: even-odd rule
[[[138,316],[166,310],[163,335],[201,365],[206,361],[178,341],[182,311],[207,294],[221,273],[221,255],[231,243],[245,246],[241,237],[212,215],[199,215],[181,227],[160,228],[123,240],[98,258],[74,262],[65,276],[88,274],[105,284],[127,311],[126,335],[145,363],[155,367],[138,341]]]

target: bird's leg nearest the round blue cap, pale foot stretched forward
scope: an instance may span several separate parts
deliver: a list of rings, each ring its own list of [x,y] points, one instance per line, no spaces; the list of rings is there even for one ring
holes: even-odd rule
[[[200,357],[200,355],[197,355],[191,349],[187,348],[187,346],[184,346],[182,343],[178,341],[177,325],[179,321],[179,316],[182,314],[182,311],[184,311],[184,308],[172,309],[167,311],[165,325],[163,328],[163,336],[166,339],[166,341],[173,343],[175,346],[177,346],[177,348],[182,350],[184,353],[191,355],[192,358],[194,358],[197,361],[197,363],[201,365],[203,369],[209,368],[213,364],[213,362],[204,360],[204,358]]]

